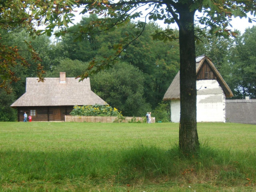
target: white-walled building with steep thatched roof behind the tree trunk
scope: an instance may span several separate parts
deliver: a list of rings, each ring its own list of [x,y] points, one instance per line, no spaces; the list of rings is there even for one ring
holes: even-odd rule
[[[196,58],[197,121],[225,122],[225,98],[233,93],[214,64],[206,56]],[[180,121],[180,71],[166,91],[164,101],[171,100],[171,121]]]

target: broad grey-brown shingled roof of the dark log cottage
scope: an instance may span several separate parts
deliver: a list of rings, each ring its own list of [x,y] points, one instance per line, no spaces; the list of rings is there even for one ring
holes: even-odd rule
[[[92,92],[90,78],[26,78],[26,92],[11,107],[107,104]]]

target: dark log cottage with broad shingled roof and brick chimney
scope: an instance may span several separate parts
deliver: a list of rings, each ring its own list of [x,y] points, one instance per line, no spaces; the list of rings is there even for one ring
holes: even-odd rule
[[[59,78],[26,78],[26,92],[11,107],[18,109],[18,121],[23,121],[24,112],[32,121],[64,121],[74,105],[107,104],[90,87],[90,78],[66,78],[60,72]]]

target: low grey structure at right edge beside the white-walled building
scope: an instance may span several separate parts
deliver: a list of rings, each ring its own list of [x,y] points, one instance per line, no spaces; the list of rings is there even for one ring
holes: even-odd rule
[[[256,100],[226,100],[226,121],[256,124]]]

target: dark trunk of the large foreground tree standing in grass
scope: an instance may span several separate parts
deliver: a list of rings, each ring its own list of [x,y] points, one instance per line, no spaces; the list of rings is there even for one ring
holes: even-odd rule
[[[188,5],[179,9],[180,42],[180,130],[179,147],[185,153],[199,148],[197,135],[197,88],[194,12]]]

